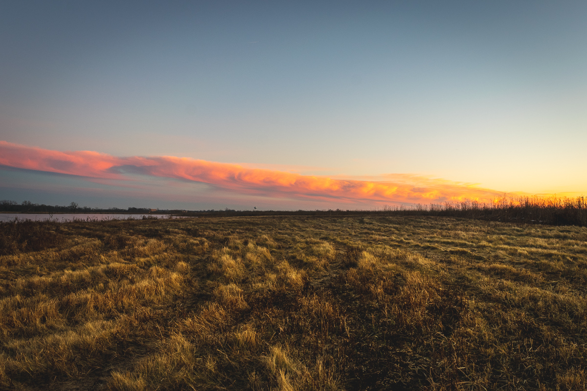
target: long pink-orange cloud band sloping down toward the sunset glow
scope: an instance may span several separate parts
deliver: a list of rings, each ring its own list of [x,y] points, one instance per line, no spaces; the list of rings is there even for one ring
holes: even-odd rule
[[[133,174],[203,182],[241,194],[345,203],[430,203],[475,199],[488,202],[502,192],[470,183],[409,174],[381,181],[336,179],[172,156],[114,157],[93,151],[51,151],[0,141],[0,165],[95,179],[128,181]]]

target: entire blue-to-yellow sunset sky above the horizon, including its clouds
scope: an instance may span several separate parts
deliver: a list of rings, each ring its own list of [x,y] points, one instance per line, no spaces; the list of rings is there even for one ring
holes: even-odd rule
[[[583,1],[0,2],[0,199],[587,195]]]

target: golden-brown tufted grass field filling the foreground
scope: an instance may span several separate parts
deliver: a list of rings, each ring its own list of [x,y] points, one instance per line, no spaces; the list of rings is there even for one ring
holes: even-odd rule
[[[0,225],[0,388],[582,390],[587,229],[432,216]]]

